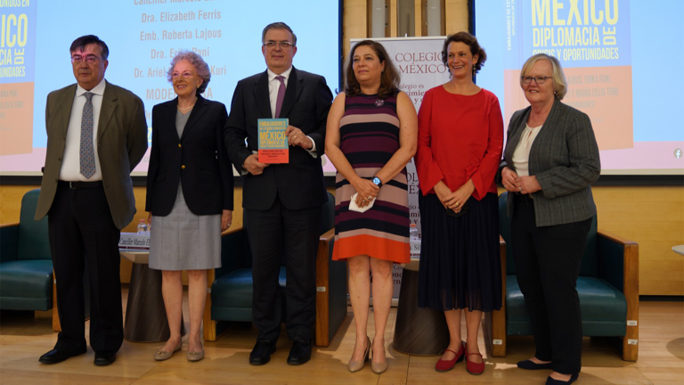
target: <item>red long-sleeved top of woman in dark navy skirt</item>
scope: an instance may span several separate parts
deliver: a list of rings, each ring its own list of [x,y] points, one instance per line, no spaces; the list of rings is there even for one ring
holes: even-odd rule
[[[472,196],[497,193],[494,176],[501,163],[503,118],[499,99],[482,89],[451,94],[436,86],[423,96],[418,112],[416,171],[423,195],[443,181],[452,191],[473,180]]]

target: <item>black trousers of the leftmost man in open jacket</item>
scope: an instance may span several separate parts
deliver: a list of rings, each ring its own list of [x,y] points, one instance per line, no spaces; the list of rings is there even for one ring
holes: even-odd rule
[[[90,278],[90,346],[116,352],[124,341],[119,280],[119,230],[101,187],[70,189],[60,183],[47,217],[57,280],[61,332],[55,348],[85,351],[83,279]],[[87,261],[87,262],[86,262]]]

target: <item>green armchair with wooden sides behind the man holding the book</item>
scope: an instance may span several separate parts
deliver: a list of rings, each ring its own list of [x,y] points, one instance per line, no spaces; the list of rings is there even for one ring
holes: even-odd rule
[[[327,347],[346,316],[346,263],[333,261],[335,197],[328,193],[323,205],[321,237],[316,255],[316,346]],[[204,339],[216,340],[224,330],[222,321],[252,321],[252,255],[246,231],[235,228],[224,233],[221,268],[209,271]],[[285,298],[285,267],[280,286]],[[284,306],[284,300],[283,300]],[[283,312],[282,314],[285,314]]]

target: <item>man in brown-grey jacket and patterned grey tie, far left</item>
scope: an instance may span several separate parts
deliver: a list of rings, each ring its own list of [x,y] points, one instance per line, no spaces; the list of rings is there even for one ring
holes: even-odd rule
[[[84,272],[90,277],[95,365],[116,360],[124,340],[120,229],[135,214],[131,171],[147,151],[142,100],[104,80],[109,48],[93,35],[69,49],[77,84],[47,95],[47,153],[36,219],[47,215],[61,332],[40,357],[57,364],[85,353]]]

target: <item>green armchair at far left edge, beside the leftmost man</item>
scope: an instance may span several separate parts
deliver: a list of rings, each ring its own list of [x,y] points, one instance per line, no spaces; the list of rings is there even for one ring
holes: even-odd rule
[[[40,189],[21,199],[18,224],[0,225],[0,309],[53,308],[53,258],[47,218],[33,219]]]

